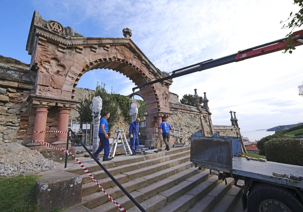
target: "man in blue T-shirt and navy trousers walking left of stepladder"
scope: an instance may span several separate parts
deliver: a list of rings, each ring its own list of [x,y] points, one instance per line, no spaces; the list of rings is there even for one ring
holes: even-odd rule
[[[105,111],[103,113],[103,117],[100,120],[98,136],[100,138],[100,146],[97,151],[93,154],[96,158],[98,158],[98,154],[104,149],[104,155],[102,161],[110,161],[112,157],[109,158],[109,139],[108,139],[108,122],[107,119],[110,116],[109,111]],[[99,160],[99,158],[98,158]]]

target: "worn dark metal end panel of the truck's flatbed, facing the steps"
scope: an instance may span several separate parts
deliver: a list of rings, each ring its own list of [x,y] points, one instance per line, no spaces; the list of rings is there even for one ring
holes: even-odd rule
[[[232,170],[231,139],[191,136],[191,162]]]

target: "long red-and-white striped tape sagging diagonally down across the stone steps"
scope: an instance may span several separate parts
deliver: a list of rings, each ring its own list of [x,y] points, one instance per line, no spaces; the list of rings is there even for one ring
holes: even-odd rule
[[[71,154],[75,160],[78,162],[78,164],[81,166],[81,168],[83,169],[83,171],[92,179],[92,181],[95,182],[95,184],[98,185],[98,187],[106,194],[106,196],[108,196],[108,198],[119,208],[119,210],[121,210],[122,212],[127,212],[120,204],[118,204],[116,202],[116,200],[114,200],[103,188],[102,186],[98,183],[98,181],[95,179],[95,177],[92,176],[92,174],[87,170],[87,168],[78,160],[78,158],[75,157],[75,155],[73,155],[70,151],[68,150],[64,150],[64,149],[60,149],[58,147],[53,146],[52,144],[46,143],[44,141],[32,141],[32,142],[38,142],[39,144],[44,144],[47,147],[51,147],[54,149],[57,149],[61,152],[65,152],[67,155]]]

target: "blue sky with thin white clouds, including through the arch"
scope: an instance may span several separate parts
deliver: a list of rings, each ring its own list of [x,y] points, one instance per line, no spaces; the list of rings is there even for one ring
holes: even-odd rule
[[[85,37],[123,37],[132,40],[161,71],[234,54],[239,50],[284,38],[281,20],[299,10],[291,0],[255,1],[15,1],[2,0],[0,55],[30,63],[25,50],[34,11],[43,19],[72,27]],[[296,28],[294,31],[303,29]],[[206,92],[212,122],[230,125],[236,111],[241,131],[303,122],[303,45],[293,54],[282,51],[173,79],[170,91]],[[112,70],[92,70],[78,87],[94,89],[97,81],[115,93],[128,95],[136,85]],[[175,126],[178,127],[178,126]]]

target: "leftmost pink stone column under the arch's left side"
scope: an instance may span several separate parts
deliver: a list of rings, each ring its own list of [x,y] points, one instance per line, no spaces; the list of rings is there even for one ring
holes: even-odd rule
[[[48,114],[48,106],[35,106],[36,108],[36,118],[34,123],[34,131],[45,131],[46,129],[46,120]],[[34,141],[44,141],[45,132],[34,132],[33,140]]]

